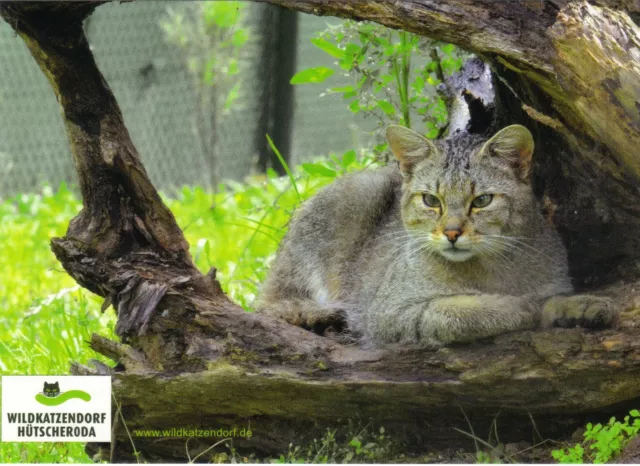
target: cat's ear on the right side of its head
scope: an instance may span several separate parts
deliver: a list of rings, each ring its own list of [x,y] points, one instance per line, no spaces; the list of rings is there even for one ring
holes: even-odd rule
[[[498,131],[489,139],[480,154],[500,157],[509,163],[518,178],[527,181],[531,170],[531,156],[533,155],[533,136],[522,125],[511,125]]]

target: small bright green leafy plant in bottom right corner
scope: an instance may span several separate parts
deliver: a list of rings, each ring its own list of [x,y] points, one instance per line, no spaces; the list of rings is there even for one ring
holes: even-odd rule
[[[624,446],[640,432],[640,412],[633,409],[623,422],[609,419],[605,425],[587,424],[584,440],[573,447],[553,450],[551,455],[558,463],[608,463]]]

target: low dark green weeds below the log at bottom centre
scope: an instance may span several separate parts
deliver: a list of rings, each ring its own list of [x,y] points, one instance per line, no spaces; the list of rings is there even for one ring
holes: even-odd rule
[[[314,439],[304,447],[289,445],[289,452],[275,463],[384,463],[397,455],[397,447],[385,435],[384,427],[378,432],[365,427],[357,433],[353,429],[341,438],[337,431],[327,429],[321,439]]]

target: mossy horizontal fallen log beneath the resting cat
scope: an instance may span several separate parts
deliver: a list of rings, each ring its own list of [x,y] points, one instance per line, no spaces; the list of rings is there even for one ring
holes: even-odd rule
[[[321,361],[301,356],[280,364],[238,349],[202,353],[212,361],[205,371],[171,375],[134,365],[114,375],[114,389],[129,431],[248,427],[252,437],[234,437],[234,445],[262,455],[311,442],[347,420],[384,426],[418,451],[470,445],[453,430],[469,432],[465,415],[484,439],[498,415],[503,442],[530,440],[536,430],[557,438],[603,410],[637,407],[638,313],[628,308],[616,331],[522,332],[437,352],[335,346]],[[114,459],[130,458],[124,431],[116,441]],[[191,456],[212,443],[190,442]],[[135,438],[135,447],[148,460],[185,460],[185,438]]]

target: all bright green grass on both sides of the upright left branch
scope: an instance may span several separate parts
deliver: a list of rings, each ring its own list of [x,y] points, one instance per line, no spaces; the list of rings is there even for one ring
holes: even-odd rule
[[[295,207],[335,177],[363,168],[353,152],[305,164],[291,176],[275,172],[218,193],[182,189],[165,197],[200,270],[214,266],[224,290],[251,310],[270,259]],[[0,201],[0,374],[68,374],[69,363],[91,358],[92,333],[114,338],[113,310],[78,287],[49,249],[81,208],[65,186]],[[0,463],[88,462],[80,443],[0,443]]]

